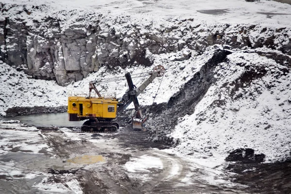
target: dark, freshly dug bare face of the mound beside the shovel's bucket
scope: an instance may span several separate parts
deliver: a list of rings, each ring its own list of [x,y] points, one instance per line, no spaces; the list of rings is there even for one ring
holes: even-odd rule
[[[167,104],[153,106],[151,109],[152,120],[147,124],[154,141],[164,140],[166,135],[175,129],[178,118],[194,113],[196,104],[207,93],[210,85],[215,82],[216,65],[224,62],[229,54],[231,52],[226,49],[216,49],[211,59],[177,94],[170,98]]]

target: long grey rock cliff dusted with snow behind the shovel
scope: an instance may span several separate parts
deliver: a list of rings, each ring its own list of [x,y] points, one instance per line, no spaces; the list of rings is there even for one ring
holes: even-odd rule
[[[198,53],[215,44],[230,48],[278,49],[291,55],[290,29],[259,26],[197,24],[193,19],[153,23],[129,16],[103,16],[42,12],[47,6],[1,4],[0,57],[5,63],[24,68],[36,79],[56,80],[60,85],[80,81],[102,66],[110,70],[129,65],[151,65],[153,54],[188,49]],[[35,19],[34,16],[37,19]],[[68,20],[60,16],[74,16]],[[141,20],[143,20],[141,22]],[[143,25],[140,25],[143,23]]]

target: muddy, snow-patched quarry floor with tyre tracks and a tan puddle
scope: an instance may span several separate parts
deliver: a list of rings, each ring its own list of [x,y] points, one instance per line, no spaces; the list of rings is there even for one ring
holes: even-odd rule
[[[80,124],[60,127],[51,122],[49,117],[38,127],[9,119],[0,122],[1,194],[291,191],[290,162],[210,168],[171,154],[166,143],[147,141],[146,131],[122,127],[116,133],[84,133]]]

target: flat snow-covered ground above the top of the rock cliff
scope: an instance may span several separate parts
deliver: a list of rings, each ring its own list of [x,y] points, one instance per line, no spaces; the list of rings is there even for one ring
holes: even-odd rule
[[[131,15],[158,20],[192,17],[210,23],[289,25],[291,5],[272,0],[2,0],[3,3],[49,5],[48,12],[84,10],[112,15]],[[46,14],[46,13],[43,13]],[[32,13],[33,16],[33,13]],[[62,16],[64,17],[64,16]]]

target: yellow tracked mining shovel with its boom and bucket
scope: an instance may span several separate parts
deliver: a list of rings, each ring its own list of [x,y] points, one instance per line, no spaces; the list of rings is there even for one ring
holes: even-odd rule
[[[135,116],[132,118],[133,129],[142,129],[146,117],[139,108],[137,97],[146,89],[146,87],[157,77],[162,77],[165,68],[162,65],[156,66],[153,71],[130,74],[125,73],[124,77],[116,77],[99,81],[89,82],[89,92],[69,92],[68,114],[69,121],[87,120],[81,127],[82,131],[89,132],[114,132],[119,128],[118,123],[113,122],[120,113],[122,113],[133,102]],[[146,81],[136,87],[132,78],[146,77]],[[116,93],[109,92],[101,95],[96,88],[98,83],[106,83],[119,80],[127,80],[129,88],[122,98],[116,98]],[[92,92],[94,91],[94,92]]]

